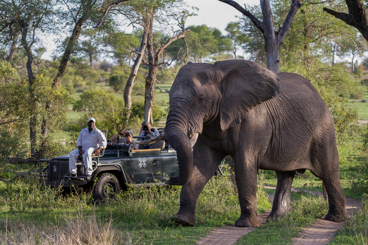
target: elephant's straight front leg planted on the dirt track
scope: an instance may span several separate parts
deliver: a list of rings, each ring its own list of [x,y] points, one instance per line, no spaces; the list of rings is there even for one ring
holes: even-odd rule
[[[256,163],[234,157],[235,179],[238,187],[240,218],[237,227],[258,227],[261,221],[257,216],[257,173]]]

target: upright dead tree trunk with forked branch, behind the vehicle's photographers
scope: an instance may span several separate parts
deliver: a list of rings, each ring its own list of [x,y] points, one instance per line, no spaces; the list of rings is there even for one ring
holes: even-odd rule
[[[147,36],[147,50],[148,50],[148,76],[146,77],[146,90],[145,90],[145,101],[144,101],[144,120],[151,123],[153,123],[153,119],[152,119],[152,109],[153,109],[153,99],[155,98],[155,94],[154,94],[154,90],[155,90],[155,80],[156,80],[156,73],[157,73],[157,69],[160,65],[162,64],[167,64],[170,65],[171,63],[162,61],[162,62],[158,62],[159,58],[161,57],[161,54],[163,53],[163,51],[174,41],[185,37],[185,34],[189,31],[189,30],[182,30],[181,33],[178,33],[178,31],[173,35],[173,37],[171,37],[171,39],[165,43],[163,46],[159,47],[159,48],[155,48],[153,46],[153,32],[151,29],[150,25],[150,29],[148,32],[148,36]],[[176,59],[176,58],[175,58]],[[172,60],[173,61],[173,60]],[[172,62],[171,61],[171,62]]]

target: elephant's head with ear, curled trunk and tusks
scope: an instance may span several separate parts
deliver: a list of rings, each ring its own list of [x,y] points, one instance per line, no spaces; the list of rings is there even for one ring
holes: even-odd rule
[[[276,73],[253,61],[188,62],[181,67],[169,92],[170,110],[164,133],[149,142],[152,144],[166,136],[177,151],[180,176],[170,176],[166,184],[185,185],[191,180],[192,146],[204,123],[217,118],[219,130],[227,130],[239,124],[252,107],[275,96],[278,90]]]

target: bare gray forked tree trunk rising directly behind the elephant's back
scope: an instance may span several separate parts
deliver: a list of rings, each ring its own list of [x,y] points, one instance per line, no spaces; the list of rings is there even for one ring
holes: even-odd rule
[[[223,3],[227,3],[239,10],[242,14],[248,17],[252,23],[263,33],[265,38],[265,50],[267,58],[267,69],[279,73],[279,52],[280,46],[284,42],[287,31],[290,28],[293,18],[300,8],[301,4],[299,0],[292,0],[289,13],[286,16],[282,28],[275,30],[275,23],[273,21],[271,6],[269,0],[261,0],[261,9],[263,20],[260,22],[254,15],[248,10],[241,7],[237,2],[233,0],[219,0]]]

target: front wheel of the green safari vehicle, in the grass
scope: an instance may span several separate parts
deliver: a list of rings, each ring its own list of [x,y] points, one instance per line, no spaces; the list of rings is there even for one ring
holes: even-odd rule
[[[107,201],[114,198],[121,190],[120,183],[116,176],[111,173],[103,173],[98,177],[98,181],[93,187],[93,199],[95,201]]]

